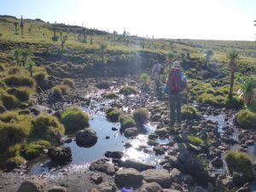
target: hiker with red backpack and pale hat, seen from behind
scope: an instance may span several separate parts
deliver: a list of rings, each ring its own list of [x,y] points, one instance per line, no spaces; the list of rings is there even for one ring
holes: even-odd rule
[[[173,67],[166,79],[166,89],[168,90],[171,109],[170,127],[172,128],[175,125],[176,119],[177,126],[180,126],[182,120],[181,107],[183,102],[183,90],[186,89],[188,91],[186,76],[181,70],[180,61],[173,62]]]

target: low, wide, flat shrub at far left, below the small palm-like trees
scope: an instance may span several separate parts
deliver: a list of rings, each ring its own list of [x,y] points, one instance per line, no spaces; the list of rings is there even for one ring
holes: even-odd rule
[[[33,87],[35,85],[34,79],[22,75],[10,75],[4,79],[4,82],[11,87]]]

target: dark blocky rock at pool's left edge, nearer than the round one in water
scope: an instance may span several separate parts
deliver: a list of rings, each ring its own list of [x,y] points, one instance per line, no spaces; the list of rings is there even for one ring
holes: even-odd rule
[[[49,158],[60,165],[65,165],[72,161],[72,151],[69,147],[57,147],[48,149]]]

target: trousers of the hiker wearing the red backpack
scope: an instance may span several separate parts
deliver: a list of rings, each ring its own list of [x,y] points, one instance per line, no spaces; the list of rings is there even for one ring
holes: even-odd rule
[[[169,94],[169,105],[171,109],[170,114],[170,126],[175,125],[175,121],[177,120],[177,124],[181,124],[182,114],[181,114],[181,106],[183,102],[183,92],[179,93],[170,93]]]

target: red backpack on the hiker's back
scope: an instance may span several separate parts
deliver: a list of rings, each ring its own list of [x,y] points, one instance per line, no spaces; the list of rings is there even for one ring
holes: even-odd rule
[[[185,82],[182,80],[181,70],[177,67],[173,67],[170,71],[167,79],[167,85],[172,93],[177,93],[185,88]]]

